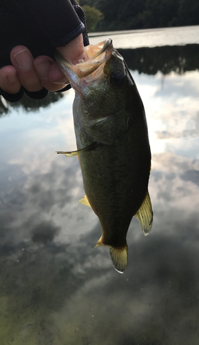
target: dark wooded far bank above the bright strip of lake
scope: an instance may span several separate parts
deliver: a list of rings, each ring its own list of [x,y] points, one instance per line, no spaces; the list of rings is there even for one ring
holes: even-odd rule
[[[199,25],[198,0],[79,0],[87,11],[98,10],[90,31],[166,28]]]

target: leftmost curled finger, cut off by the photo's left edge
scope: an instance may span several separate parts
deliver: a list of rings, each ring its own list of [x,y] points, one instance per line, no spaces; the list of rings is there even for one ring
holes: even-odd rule
[[[19,92],[21,83],[14,66],[4,66],[0,69],[0,88],[10,94]]]

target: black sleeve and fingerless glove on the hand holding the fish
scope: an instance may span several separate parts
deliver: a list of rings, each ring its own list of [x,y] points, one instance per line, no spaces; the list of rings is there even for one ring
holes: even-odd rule
[[[54,48],[65,46],[81,33],[84,45],[89,44],[85,15],[75,0],[0,0],[0,32],[0,68],[11,64],[10,50],[19,44],[28,47],[34,58],[54,58]],[[17,101],[23,91],[22,88],[19,95],[8,95],[0,89],[0,94]],[[47,93],[42,90],[28,95],[43,98]]]

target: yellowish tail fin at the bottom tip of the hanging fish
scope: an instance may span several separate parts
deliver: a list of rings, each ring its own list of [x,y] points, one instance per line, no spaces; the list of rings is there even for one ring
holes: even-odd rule
[[[128,264],[128,246],[125,244],[123,247],[112,247],[108,246],[107,244],[104,244],[102,241],[102,237],[98,240],[94,248],[99,246],[107,246],[110,250],[110,255],[112,258],[112,263],[114,265],[114,269],[118,273],[124,273],[125,268]]]

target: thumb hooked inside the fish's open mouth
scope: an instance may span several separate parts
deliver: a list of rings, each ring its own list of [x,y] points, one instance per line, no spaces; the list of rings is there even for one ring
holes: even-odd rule
[[[84,61],[87,61],[88,59],[83,46],[82,34],[76,37],[76,39],[70,41],[70,43],[67,43],[66,46],[58,47],[56,49],[59,50],[61,55],[73,65],[76,65],[79,59],[83,59]]]

